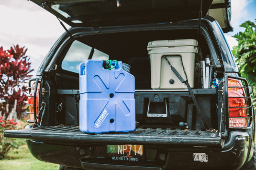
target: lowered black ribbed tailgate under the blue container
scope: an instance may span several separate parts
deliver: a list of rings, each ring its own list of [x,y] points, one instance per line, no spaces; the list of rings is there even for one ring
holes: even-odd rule
[[[78,127],[47,126],[24,130],[6,130],[4,136],[33,140],[69,142],[134,143],[165,145],[196,145],[220,147],[222,140],[216,131],[137,128],[129,133],[87,134]]]

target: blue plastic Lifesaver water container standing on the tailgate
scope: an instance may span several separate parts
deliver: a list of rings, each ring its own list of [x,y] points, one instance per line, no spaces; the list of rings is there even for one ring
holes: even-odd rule
[[[117,61],[111,70],[103,69],[102,64],[102,60],[80,64],[80,130],[86,133],[133,131],[134,76],[122,70],[122,61]]]

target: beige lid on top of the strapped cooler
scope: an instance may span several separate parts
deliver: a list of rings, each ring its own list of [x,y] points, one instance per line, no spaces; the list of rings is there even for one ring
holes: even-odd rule
[[[156,40],[148,43],[147,48],[153,47],[180,47],[180,46],[194,46],[197,47],[197,40]]]

